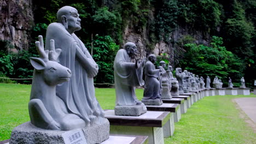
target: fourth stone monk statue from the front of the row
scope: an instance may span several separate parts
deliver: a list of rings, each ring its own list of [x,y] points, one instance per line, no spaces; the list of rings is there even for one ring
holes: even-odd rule
[[[161,79],[161,86],[162,86],[162,99],[171,99],[172,95],[171,95],[171,88],[172,88],[172,83],[171,83],[171,79],[168,75],[168,73],[166,72],[166,70],[164,69],[166,67],[166,64],[164,61],[161,61],[160,63],[160,67],[158,67],[159,69],[162,69],[162,79]]]

